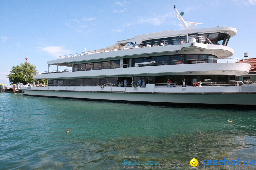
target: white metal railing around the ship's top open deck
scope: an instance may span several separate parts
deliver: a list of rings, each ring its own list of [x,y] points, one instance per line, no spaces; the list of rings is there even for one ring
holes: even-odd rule
[[[100,49],[100,50],[93,50],[93,51],[88,51],[88,52],[80,52],[80,53],[75,53],[75,54],[68,54],[68,55],[64,55],[64,56],[59,56],[59,59],[77,57],[77,56],[85,56],[85,55],[103,53],[103,52],[118,51],[118,50],[135,49],[135,48],[167,46],[167,45],[180,45],[180,44],[183,44],[183,43],[191,43],[191,42],[199,42],[199,43],[203,43],[203,44],[212,44],[212,42],[207,37],[195,36],[194,35],[194,36],[183,37],[181,39],[170,39],[170,40],[165,40],[165,41],[154,41],[154,42],[141,43],[141,44],[136,44],[136,45],[121,46],[119,44],[119,47],[104,48],[104,49]]]

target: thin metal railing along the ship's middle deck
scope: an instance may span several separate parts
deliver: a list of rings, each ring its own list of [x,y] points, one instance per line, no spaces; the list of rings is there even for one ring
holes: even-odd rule
[[[179,62],[181,61],[181,62]],[[139,64],[138,67],[143,66],[157,66],[157,65],[177,65],[177,64],[200,64],[200,63],[247,63],[245,59],[239,58],[226,58],[226,59],[187,59],[187,60],[171,60],[171,61],[160,61],[156,63],[146,63],[146,64]],[[102,69],[119,69],[119,68],[127,68],[127,67],[135,67],[135,64],[119,64],[114,66],[100,66],[100,67],[88,67],[88,68],[75,68],[75,69],[63,69],[63,70],[53,70],[53,71],[42,71],[37,72],[36,75],[40,74],[50,74],[50,73],[66,73],[66,72],[75,72],[75,71],[90,71],[90,70],[102,70]]]

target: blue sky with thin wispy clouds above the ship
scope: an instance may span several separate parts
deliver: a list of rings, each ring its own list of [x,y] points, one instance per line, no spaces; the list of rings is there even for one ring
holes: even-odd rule
[[[1,1],[0,83],[7,82],[13,65],[28,58],[38,71],[58,56],[96,50],[136,35],[184,29],[174,5],[197,28],[234,27],[228,46],[232,58],[255,58],[256,0],[183,1]],[[51,66],[50,70],[56,70]]]

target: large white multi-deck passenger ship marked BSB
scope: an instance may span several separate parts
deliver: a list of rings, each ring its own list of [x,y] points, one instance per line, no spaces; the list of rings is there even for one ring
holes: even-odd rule
[[[48,79],[48,85],[22,87],[23,95],[155,104],[255,105],[256,85],[238,81],[251,65],[229,58],[234,50],[227,44],[237,30],[191,29],[201,23],[188,27],[183,12],[174,9],[185,30],[138,35],[108,48],[48,61],[48,71],[34,75],[34,79]],[[57,66],[57,70],[50,71],[50,65]],[[58,66],[71,69],[59,70]],[[125,80],[127,84],[123,84]]]

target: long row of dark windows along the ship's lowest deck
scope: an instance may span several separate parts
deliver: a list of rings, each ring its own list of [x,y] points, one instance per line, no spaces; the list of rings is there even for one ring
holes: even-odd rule
[[[194,83],[201,80],[207,84],[210,82],[228,82],[237,81],[237,76],[231,75],[176,75],[176,76],[134,76],[133,80],[137,84],[139,79],[147,81],[148,78],[152,83],[167,83],[168,78],[172,82],[181,83],[183,78],[186,79],[187,83]],[[76,79],[55,79],[49,80],[48,85],[89,85],[89,84],[116,84],[117,82],[123,82],[127,80],[128,84],[132,82],[132,77],[104,77],[104,78],[76,78]]]

